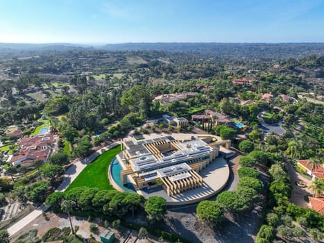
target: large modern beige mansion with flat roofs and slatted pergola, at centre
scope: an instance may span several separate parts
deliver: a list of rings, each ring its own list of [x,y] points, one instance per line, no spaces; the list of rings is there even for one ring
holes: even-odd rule
[[[135,181],[135,188],[163,185],[169,196],[201,187],[203,178],[198,174],[219,156],[221,146],[230,147],[230,140],[213,142],[213,137],[180,141],[172,136],[147,140],[123,141],[121,183],[128,183],[128,176]],[[159,181],[159,183],[157,183]]]

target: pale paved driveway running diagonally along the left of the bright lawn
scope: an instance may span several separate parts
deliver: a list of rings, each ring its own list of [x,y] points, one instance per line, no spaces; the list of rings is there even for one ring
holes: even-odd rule
[[[65,172],[65,178],[63,179],[61,185],[56,190],[57,192],[64,192],[67,187],[75,180],[75,178],[78,176],[78,174],[85,169],[85,167],[92,161],[94,161],[98,156],[101,155],[101,153],[108,151],[114,146],[117,146],[120,144],[119,142],[114,142],[113,144],[110,144],[108,146],[104,146],[103,148],[97,150],[96,152],[92,153],[91,156],[87,158],[83,158],[81,160],[75,160],[74,165],[69,167],[67,171]],[[42,215],[43,212],[45,212],[49,207],[46,206],[44,203],[38,207],[36,210],[33,210],[29,215],[18,221],[16,224],[10,226],[8,228],[8,233],[10,236],[15,235],[19,230],[24,228],[26,225],[30,224],[31,221],[36,219],[38,216]]]

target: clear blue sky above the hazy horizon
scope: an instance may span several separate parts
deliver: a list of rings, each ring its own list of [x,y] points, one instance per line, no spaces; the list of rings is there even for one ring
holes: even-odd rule
[[[324,0],[0,0],[0,42],[324,42]]]

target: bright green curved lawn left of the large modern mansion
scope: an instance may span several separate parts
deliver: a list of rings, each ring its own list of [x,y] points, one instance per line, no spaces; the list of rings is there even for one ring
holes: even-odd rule
[[[78,177],[67,187],[66,192],[74,187],[83,186],[112,190],[113,187],[110,185],[108,179],[108,167],[114,156],[117,156],[120,151],[120,146],[116,146],[102,153],[94,162],[83,169]]]

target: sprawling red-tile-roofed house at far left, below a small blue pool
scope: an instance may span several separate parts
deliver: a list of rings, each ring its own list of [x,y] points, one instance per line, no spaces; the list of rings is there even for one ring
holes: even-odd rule
[[[33,165],[36,160],[46,162],[54,142],[55,139],[51,134],[23,137],[19,142],[19,156],[12,157],[10,164],[17,167]]]

